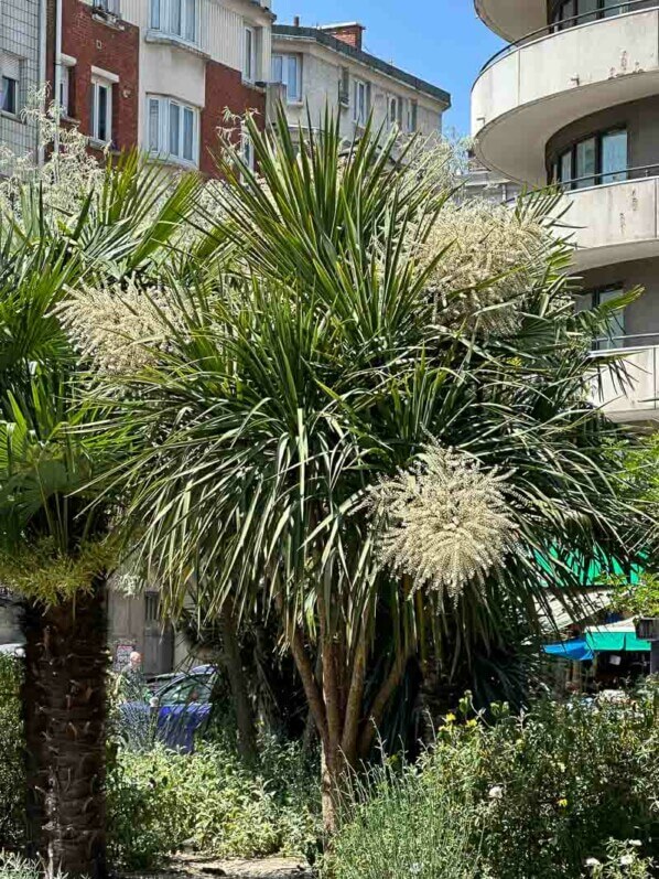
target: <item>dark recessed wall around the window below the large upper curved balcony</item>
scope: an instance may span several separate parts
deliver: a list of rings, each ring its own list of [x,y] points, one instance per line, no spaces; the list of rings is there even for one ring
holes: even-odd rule
[[[585,116],[558,131],[548,142],[545,151],[548,175],[555,158],[577,140],[627,127],[627,163],[629,168],[657,165],[648,174],[659,172],[659,96],[633,100],[608,107]],[[644,176],[646,172],[640,172]],[[549,179],[549,178],[548,178]]]

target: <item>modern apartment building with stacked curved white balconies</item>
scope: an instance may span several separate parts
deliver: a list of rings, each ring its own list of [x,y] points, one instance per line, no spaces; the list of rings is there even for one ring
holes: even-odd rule
[[[646,292],[612,323],[633,386],[605,382],[626,421],[659,415],[659,3],[475,0],[509,45],[472,93],[475,154],[530,187],[559,183],[573,227],[580,307]]]

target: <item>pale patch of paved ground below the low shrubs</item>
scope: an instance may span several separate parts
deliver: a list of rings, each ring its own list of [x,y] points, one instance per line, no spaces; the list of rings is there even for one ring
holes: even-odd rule
[[[312,879],[311,870],[291,858],[209,860],[182,855],[163,870],[123,873],[122,879]]]

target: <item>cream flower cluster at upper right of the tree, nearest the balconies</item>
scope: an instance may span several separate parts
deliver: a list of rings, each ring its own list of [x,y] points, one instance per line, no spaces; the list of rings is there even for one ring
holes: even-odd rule
[[[420,253],[428,265],[449,248],[429,283],[437,320],[466,325],[477,320],[485,331],[515,326],[529,269],[538,265],[549,240],[541,223],[505,205],[446,202]]]

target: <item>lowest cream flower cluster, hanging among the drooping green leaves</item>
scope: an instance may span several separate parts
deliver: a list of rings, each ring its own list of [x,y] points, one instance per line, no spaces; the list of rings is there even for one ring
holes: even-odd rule
[[[382,561],[454,601],[468,582],[482,586],[515,542],[506,478],[469,455],[440,446],[370,493]]]

